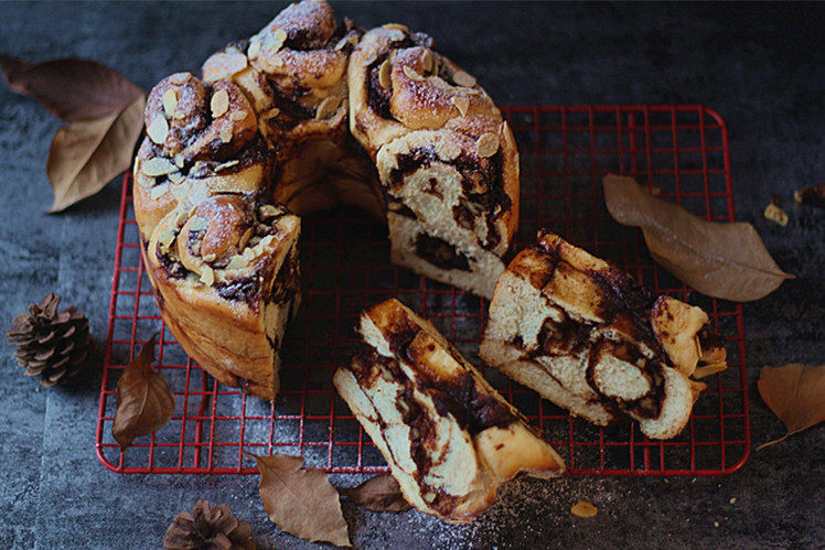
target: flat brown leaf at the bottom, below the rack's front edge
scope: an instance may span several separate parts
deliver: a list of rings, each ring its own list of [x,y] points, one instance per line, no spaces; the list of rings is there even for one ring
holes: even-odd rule
[[[303,540],[350,546],[341,500],[325,473],[304,468],[299,456],[253,456],[260,471],[260,499],[272,522]]]

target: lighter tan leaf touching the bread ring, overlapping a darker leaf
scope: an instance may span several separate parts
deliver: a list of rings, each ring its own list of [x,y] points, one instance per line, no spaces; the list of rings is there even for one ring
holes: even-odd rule
[[[143,127],[143,96],[122,111],[71,122],[57,130],[49,150],[46,174],[54,190],[49,212],[60,212],[94,195],[129,169]]]

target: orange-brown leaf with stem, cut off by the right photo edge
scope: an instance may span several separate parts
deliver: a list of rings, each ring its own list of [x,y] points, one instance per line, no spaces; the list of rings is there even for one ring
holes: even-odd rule
[[[825,420],[825,366],[792,363],[779,368],[764,367],[759,374],[757,388],[788,428],[788,433],[763,443],[757,451]]]

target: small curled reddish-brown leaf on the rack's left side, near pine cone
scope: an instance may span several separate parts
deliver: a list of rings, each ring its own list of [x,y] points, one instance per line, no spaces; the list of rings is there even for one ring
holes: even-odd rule
[[[126,366],[117,382],[117,412],[111,434],[125,452],[135,438],[149,435],[164,427],[174,412],[174,395],[169,380],[152,369],[154,338]]]

